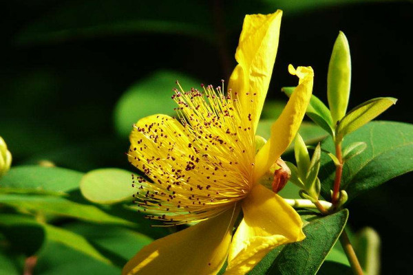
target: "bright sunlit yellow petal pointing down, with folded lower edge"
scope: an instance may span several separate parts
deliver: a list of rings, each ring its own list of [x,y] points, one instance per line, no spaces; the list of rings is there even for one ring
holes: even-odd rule
[[[305,238],[297,212],[261,184],[244,199],[242,211],[244,219],[233,236],[225,274],[246,274],[278,245]]]

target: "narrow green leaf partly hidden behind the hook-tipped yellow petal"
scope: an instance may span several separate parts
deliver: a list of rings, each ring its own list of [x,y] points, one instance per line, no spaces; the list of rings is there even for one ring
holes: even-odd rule
[[[281,90],[288,96],[288,98],[293,94],[295,87],[283,87]],[[332,135],[334,133],[335,125],[332,123],[330,110],[326,105],[317,98],[317,96],[312,95],[310,98],[310,103],[306,109],[306,114],[313,122],[315,122],[322,129],[326,130],[327,133]]]

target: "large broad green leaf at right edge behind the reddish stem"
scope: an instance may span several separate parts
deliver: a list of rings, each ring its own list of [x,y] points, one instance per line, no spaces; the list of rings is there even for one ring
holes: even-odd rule
[[[343,140],[343,148],[354,142],[366,142],[362,154],[343,165],[341,187],[348,193],[348,201],[385,181],[413,170],[413,125],[401,122],[375,121],[350,133]],[[332,138],[321,144],[327,151],[334,150]],[[335,166],[329,157],[321,155],[321,194],[330,197],[335,177]]]

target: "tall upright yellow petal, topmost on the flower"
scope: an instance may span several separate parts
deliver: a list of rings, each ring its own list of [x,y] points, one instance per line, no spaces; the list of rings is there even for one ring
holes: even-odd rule
[[[244,120],[252,120],[254,132],[273,74],[281,17],[281,10],[246,15],[235,53],[238,65],[229,79],[229,89],[231,96],[241,102]]]

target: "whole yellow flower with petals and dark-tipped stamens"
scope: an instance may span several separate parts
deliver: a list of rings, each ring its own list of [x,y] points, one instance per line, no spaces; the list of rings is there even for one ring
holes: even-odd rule
[[[289,67],[299,85],[255,155],[281,17],[245,17],[226,96],[223,87],[181,88],[179,120],[151,115],[134,126],[129,161],[153,181],[136,179],[139,206],[166,225],[199,223],[142,248],[123,274],[216,274],[227,256],[226,274],[245,274],[277,245],[304,239],[297,212],[257,183],[293,140],[313,89],[313,69]]]

